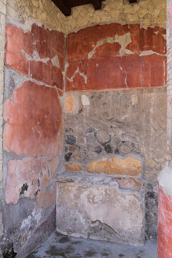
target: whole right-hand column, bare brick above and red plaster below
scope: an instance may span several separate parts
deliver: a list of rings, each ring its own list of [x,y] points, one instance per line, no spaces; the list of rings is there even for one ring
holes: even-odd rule
[[[172,0],[167,0],[167,165],[159,177],[158,258],[172,257]]]

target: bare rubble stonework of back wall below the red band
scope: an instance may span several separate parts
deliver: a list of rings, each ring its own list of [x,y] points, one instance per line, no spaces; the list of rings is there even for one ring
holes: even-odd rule
[[[66,94],[65,170],[111,176],[121,189],[143,183],[146,232],[156,235],[157,176],[166,160],[166,88]]]

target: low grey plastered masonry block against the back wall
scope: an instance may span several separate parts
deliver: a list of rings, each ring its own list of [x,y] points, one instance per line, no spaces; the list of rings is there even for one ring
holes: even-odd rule
[[[101,175],[59,176],[56,207],[56,230],[64,235],[144,245],[143,189],[121,190]]]

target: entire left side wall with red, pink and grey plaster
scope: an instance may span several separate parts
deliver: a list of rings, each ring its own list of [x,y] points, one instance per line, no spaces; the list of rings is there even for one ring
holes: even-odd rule
[[[1,21],[5,29],[5,16]],[[50,0],[7,0],[3,40],[1,246],[6,254],[12,250],[25,257],[55,231],[55,175],[63,153],[64,16]]]

